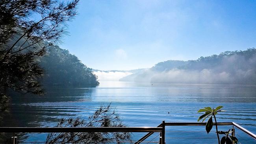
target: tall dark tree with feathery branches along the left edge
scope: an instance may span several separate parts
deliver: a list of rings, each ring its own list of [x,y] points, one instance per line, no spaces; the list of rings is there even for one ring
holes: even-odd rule
[[[44,93],[38,81],[43,69],[37,59],[49,45],[59,42],[66,22],[77,13],[78,1],[0,0],[1,114],[6,110],[8,89]]]

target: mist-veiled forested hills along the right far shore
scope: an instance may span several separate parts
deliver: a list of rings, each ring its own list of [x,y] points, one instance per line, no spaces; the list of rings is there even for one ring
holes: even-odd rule
[[[256,85],[256,50],[227,51],[191,61],[165,61],[128,78],[121,81]]]

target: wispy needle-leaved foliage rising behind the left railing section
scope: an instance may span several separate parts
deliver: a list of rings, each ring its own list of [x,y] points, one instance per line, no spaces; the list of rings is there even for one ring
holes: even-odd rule
[[[119,114],[108,106],[100,106],[87,118],[61,118],[56,127],[126,127]],[[109,133],[49,133],[46,144],[113,144],[131,142],[131,134],[127,132]]]

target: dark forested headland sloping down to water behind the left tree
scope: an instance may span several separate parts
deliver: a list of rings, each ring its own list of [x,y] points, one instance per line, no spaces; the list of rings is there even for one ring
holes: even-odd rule
[[[91,68],[59,46],[50,46],[40,58],[40,65],[45,70],[43,85],[95,87],[99,84]]]

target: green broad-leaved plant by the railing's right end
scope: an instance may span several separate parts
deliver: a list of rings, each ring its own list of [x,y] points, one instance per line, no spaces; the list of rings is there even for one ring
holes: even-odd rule
[[[214,118],[214,121],[215,121],[215,128],[216,128],[216,134],[217,134],[217,137],[218,137],[218,143],[219,144],[230,144],[229,143],[229,140],[232,142],[232,140],[234,142],[237,142],[237,138],[236,137],[233,137],[233,136],[228,136],[228,134],[226,134],[226,132],[223,132],[223,131],[218,131],[218,126],[217,126],[217,120],[216,120],[216,115],[219,113],[219,112],[223,112],[223,110],[221,110],[221,108],[223,108],[223,106],[218,106],[216,107],[215,109],[214,108],[211,108],[211,107],[204,107],[204,109],[199,109],[197,113],[202,113],[204,112],[204,114],[202,114],[201,116],[199,116],[198,118],[198,122],[200,120],[202,120],[202,122],[204,122],[207,118],[208,121],[206,123],[206,132],[207,133],[210,133],[212,127],[213,127],[213,118]],[[227,131],[227,133],[229,133],[229,131]],[[219,139],[219,134],[225,134],[226,136],[224,136],[223,138],[221,138],[222,141],[220,141]],[[224,143],[223,143],[224,142]]]

